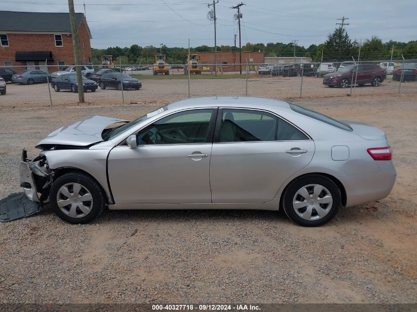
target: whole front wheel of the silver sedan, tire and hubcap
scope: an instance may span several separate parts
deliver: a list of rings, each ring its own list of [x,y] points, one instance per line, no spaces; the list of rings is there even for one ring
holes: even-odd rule
[[[64,221],[85,224],[102,212],[106,201],[100,185],[82,173],[66,173],[49,191],[52,210]]]

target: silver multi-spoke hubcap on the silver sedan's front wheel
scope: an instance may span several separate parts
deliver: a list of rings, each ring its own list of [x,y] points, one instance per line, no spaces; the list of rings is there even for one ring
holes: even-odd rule
[[[67,183],[58,190],[56,203],[66,215],[82,218],[93,208],[93,196],[79,183]]]

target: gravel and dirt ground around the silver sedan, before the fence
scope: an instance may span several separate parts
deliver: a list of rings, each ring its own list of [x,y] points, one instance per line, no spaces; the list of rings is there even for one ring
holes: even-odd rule
[[[0,108],[0,198],[19,191],[22,147],[34,156],[65,123],[131,119],[162,102]],[[398,172],[391,194],[320,228],[252,210],[107,211],[71,225],[45,207],[0,224],[0,303],[416,303],[415,96],[294,102],[383,129]]]

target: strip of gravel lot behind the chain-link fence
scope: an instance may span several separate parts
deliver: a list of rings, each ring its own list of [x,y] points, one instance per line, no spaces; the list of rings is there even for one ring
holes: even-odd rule
[[[165,77],[161,77],[165,78]],[[125,104],[172,102],[188,96],[187,79],[143,79],[140,90],[125,90],[123,92]],[[323,86],[323,79],[317,77],[303,78],[304,98],[345,97],[350,94],[350,88],[329,88]],[[245,95],[246,85],[249,96],[262,96],[280,99],[299,98],[301,77],[270,77],[251,74],[246,84],[245,75],[242,79],[192,79],[190,80],[191,96],[221,96]],[[354,88],[352,94],[358,95],[398,95],[399,82],[392,81],[388,76],[378,88],[371,86]],[[231,91],[232,90],[232,91]],[[55,92],[50,89],[52,105],[64,106],[76,104],[78,94],[71,91]],[[402,84],[401,93],[404,95],[417,95],[417,82]],[[88,104],[122,104],[121,91],[115,89],[97,89],[96,92],[86,92],[85,101]],[[46,83],[35,85],[7,84],[7,95],[0,97],[0,107],[40,107],[49,105],[48,85]]]

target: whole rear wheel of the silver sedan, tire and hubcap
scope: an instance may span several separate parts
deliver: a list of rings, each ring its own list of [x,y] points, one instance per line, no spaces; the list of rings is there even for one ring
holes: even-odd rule
[[[320,226],[332,220],[339,211],[341,191],[324,175],[305,175],[286,188],[282,206],[293,222],[302,226]]]

